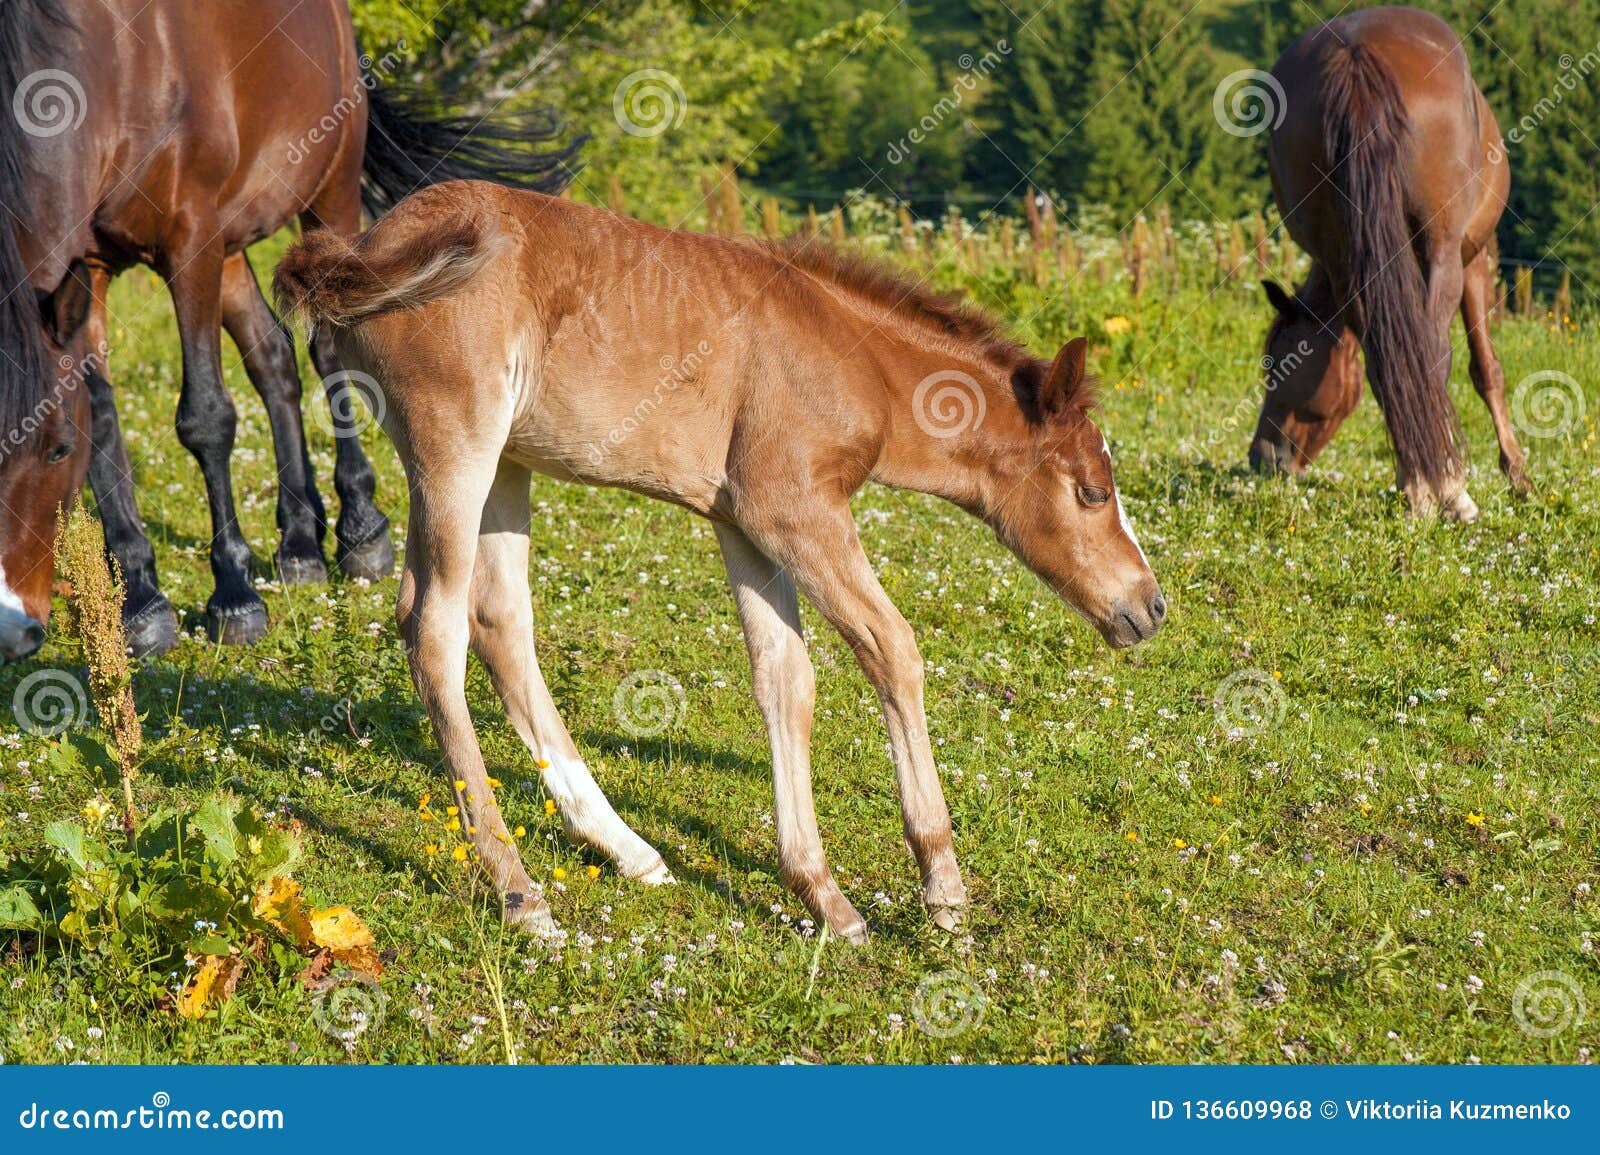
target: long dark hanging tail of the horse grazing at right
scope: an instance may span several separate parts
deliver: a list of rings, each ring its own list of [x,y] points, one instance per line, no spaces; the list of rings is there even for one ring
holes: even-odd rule
[[[1323,141],[1349,237],[1347,277],[1373,392],[1402,478],[1424,480],[1443,496],[1442,483],[1461,472],[1459,429],[1405,216],[1403,144],[1411,131],[1405,101],[1394,72],[1363,43],[1334,50],[1325,101]],[[1445,344],[1446,358],[1448,350]]]

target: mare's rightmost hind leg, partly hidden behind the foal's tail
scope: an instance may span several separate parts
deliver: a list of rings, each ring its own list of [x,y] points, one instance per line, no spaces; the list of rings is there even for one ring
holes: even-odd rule
[[[355,237],[362,230],[360,170],[347,181],[334,179],[330,192],[301,216],[301,227],[333,229]],[[373,501],[378,478],[362,450],[360,429],[352,421],[365,402],[355,395],[349,376],[342,373],[333,352],[333,333],[326,326],[310,341],[310,360],[333,410],[333,488],[339,494],[339,520],[333,536],[338,542],[339,570],[350,578],[387,578],[395,568],[389,518]]]

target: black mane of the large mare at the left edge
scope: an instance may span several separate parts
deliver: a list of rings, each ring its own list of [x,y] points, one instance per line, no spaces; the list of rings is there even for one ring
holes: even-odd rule
[[[53,374],[45,365],[38,301],[18,250],[14,219],[30,211],[21,118],[11,102],[30,62],[50,59],[58,34],[72,27],[59,0],[0,3],[0,430],[14,432],[45,402]],[[14,216],[13,216],[14,214]]]

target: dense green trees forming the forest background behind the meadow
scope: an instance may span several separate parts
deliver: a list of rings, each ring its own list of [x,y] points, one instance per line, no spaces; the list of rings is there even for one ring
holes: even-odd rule
[[[786,210],[870,195],[1019,211],[1029,187],[1114,224],[1270,200],[1264,136],[1218,86],[1336,0],[355,0],[374,56],[475,112],[550,106],[590,134],[576,195],[704,226],[731,163]],[[1600,286],[1600,0],[1422,0],[1466,38],[1507,134],[1501,254]],[[645,74],[645,75],[640,75]],[[635,104],[624,107],[619,98]],[[654,101],[654,104],[651,104]],[[658,117],[643,122],[638,117]],[[661,120],[664,117],[664,120]],[[915,130],[915,133],[912,131]]]

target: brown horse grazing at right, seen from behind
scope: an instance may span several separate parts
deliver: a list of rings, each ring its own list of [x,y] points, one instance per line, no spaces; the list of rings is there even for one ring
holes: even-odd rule
[[[1488,328],[1494,226],[1510,189],[1494,114],[1456,34],[1414,8],[1312,29],[1272,75],[1285,98],[1272,190],[1312,267],[1294,296],[1266,285],[1277,318],[1250,461],[1304,470],[1360,400],[1365,350],[1411,509],[1472,522],[1448,392],[1458,307],[1501,469],[1528,491]]]

